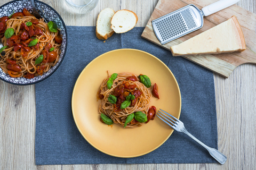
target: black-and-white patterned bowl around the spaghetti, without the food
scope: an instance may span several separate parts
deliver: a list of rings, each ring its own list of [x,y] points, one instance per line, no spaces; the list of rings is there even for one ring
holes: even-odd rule
[[[46,20],[46,22],[53,21],[58,25],[58,28],[60,28],[60,34],[62,36],[62,43],[60,46],[61,54],[60,54],[60,60],[57,64],[55,64],[51,69],[47,72],[45,72],[43,75],[39,75],[33,79],[26,79],[26,78],[12,78],[9,74],[6,74],[3,72],[3,70],[0,67],[0,79],[11,83],[11,84],[17,84],[17,85],[29,85],[29,84],[35,84],[37,82],[43,81],[46,78],[50,77],[58,69],[61,62],[64,59],[64,56],[66,54],[67,50],[67,29],[64,21],[62,20],[61,16],[49,5],[36,1],[35,0],[35,6],[37,11],[41,16],[43,16]],[[9,3],[6,3],[0,7],[0,18],[2,16],[9,16],[13,13],[13,10],[15,12],[22,12],[23,8],[26,8],[30,13],[33,12],[33,8],[31,5],[30,0],[14,0]]]

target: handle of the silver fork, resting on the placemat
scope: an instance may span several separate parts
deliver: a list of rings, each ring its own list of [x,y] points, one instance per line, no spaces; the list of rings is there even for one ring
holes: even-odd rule
[[[185,128],[181,129],[181,132],[186,133],[190,138],[194,139],[195,141],[197,141],[200,145],[202,145],[205,149],[207,149],[210,153],[210,155],[216,159],[220,164],[224,164],[227,160],[227,157],[222,154],[220,151],[211,148],[207,145],[205,145],[203,142],[199,141],[197,138],[195,138],[192,134],[190,134]]]

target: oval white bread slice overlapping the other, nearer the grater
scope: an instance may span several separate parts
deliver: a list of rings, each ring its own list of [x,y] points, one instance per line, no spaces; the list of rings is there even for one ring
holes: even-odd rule
[[[117,11],[111,19],[111,28],[116,33],[124,33],[133,29],[138,21],[138,16],[129,10]]]

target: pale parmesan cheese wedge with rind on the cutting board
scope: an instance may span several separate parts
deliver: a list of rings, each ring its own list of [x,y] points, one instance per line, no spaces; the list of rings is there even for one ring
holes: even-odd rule
[[[225,22],[171,47],[173,56],[243,52],[246,49],[242,29],[232,16]]]

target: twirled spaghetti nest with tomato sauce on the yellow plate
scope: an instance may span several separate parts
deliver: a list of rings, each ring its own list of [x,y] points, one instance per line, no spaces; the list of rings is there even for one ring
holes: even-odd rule
[[[100,90],[98,92],[99,97],[102,99],[98,113],[105,114],[114,123],[124,126],[127,116],[132,113],[141,111],[148,116],[148,110],[150,105],[151,92],[150,88],[147,88],[140,81],[131,81],[129,78],[138,79],[138,76],[133,73],[118,73],[116,79],[113,81],[113,85],[110,89],[107,87],[107,82],[111,78],[108,72],[108,77],[103,80]],[[130,87],[130,89],[129,89]],[[135,88],[134,88],[135,87]],[[128,88],[128,89],[126,89]],[[118,90],[123,90],[118,93]],[[139,95],[138,95],[139,94]],[[108,100],[110,95],[115,95],[117,98],[116,104],[111,104]],[[118,96],[119,95],[119,96]],[[131,104],[124,109],[120,108],[120,103],[123,103],[126,96],[134,95],[135,101],[131,100]],[[121,99],[120,99],[121,98]],[[133,120],[127,124],[126,128],[137,128],[143,123]]]

